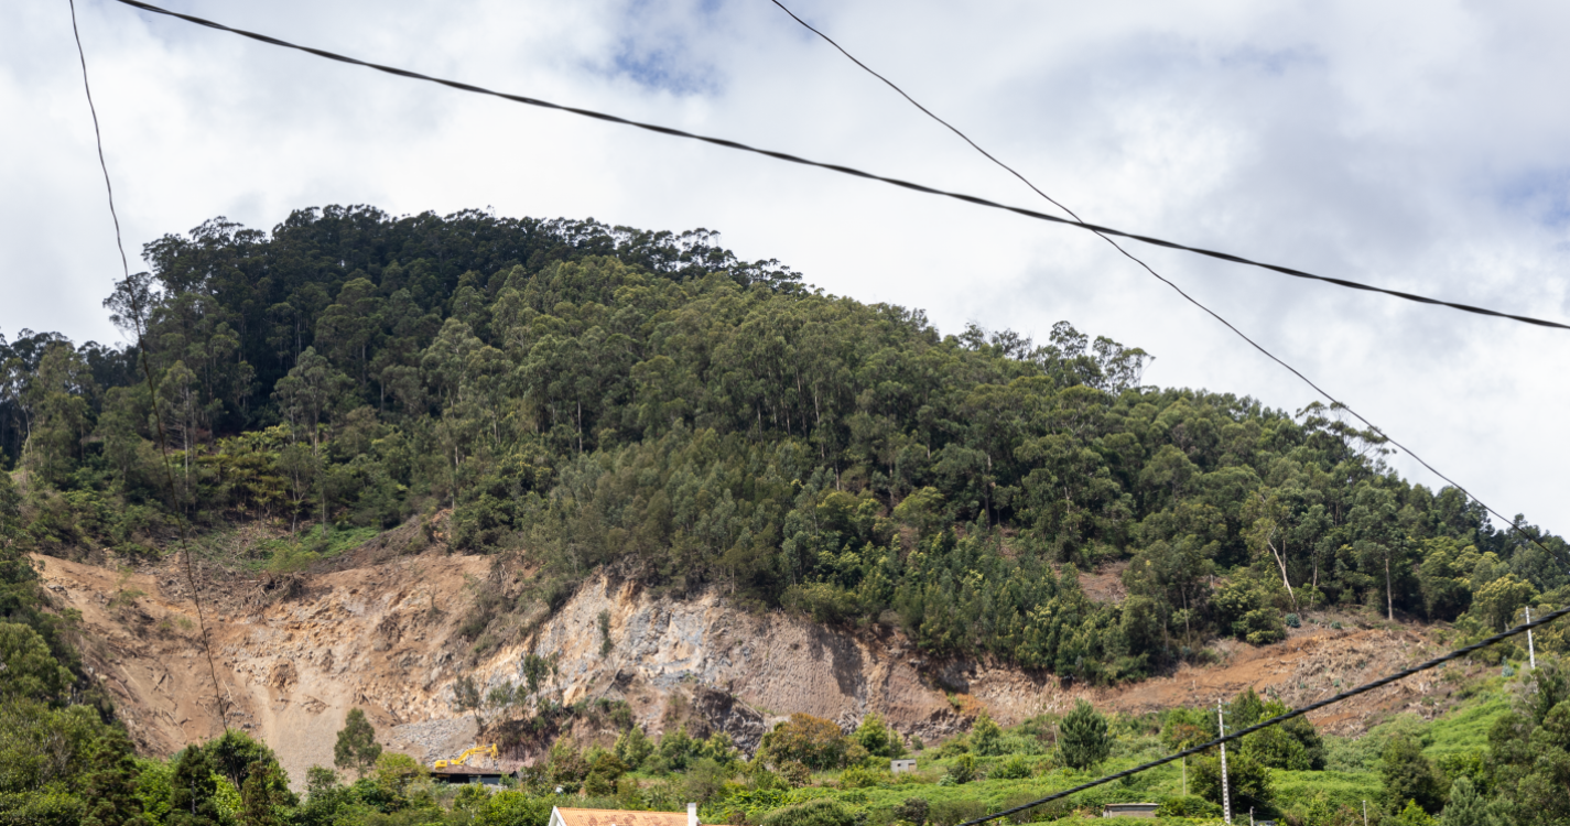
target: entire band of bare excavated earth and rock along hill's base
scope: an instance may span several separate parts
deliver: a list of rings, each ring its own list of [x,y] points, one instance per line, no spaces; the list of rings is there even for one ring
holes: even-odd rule
[[[170,564],[116,573],[36,559],[46,587],[82,612],[86,661],[143,749],[170,754],[221,730],[184,572]],[[1297,705],[1432,649],[1421,628],[1305,630],[1278,645],[1231,645],[1220,664],[1182,667],[1134,686],[1064,689],[1053,677],[1019,669],[929,661],[898,633],[749,614],[717,594],[655,598],[636,583],[601,578],[579,589],[528,642],[476,655],[458,627],[474,583],[493,575],[491,564],[493,557],[451,556],[438,546],[391,559],[366,551],[341,570],[283,583],[199,573],[228,724],[265,740],[300,784],[308,766],[331,765],[336,732],[353,707],[366,710],[389,747],[427,762],[455,755],[473,744],[476,725],[451,705],[454,680],[521,685],[529,655],[556,664],[539,697],[623,699],[652,733],[675,719],[674,707],[685,707],[738,741],[755,743],[763,725],[793,711],[842,725],[879,711],[901,732],[934,741],[967,729],[980,707],[1006,724],[1061,711],[1075,697],[1146,711],[1210,704],[1248,686]],[[1448,685],[1413,678],[1316,721],[1356,733],[1375,713],[1432,713],[1432,696]]]

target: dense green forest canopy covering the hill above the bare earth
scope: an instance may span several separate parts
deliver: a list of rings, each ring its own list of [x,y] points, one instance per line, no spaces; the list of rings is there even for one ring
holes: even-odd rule
[[[1402,481],[1336,410],[1146,386],[1066,322],[942,334],[708,231],[328,207],[144,259],[105,306],[146,353],[0,341],[13,551],[155,554],[171,509],[319,548],[444,515],[540,562],[529,598],[609,570],[1099,682],[1302,611],[1482,631],[1570,586],[1559,537]],[[1119,603],[1079,586],[1107,562]]]

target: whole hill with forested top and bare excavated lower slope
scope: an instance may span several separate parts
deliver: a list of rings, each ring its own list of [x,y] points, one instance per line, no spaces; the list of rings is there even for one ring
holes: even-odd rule
[[[904,741],[984,708],[1038,725],[1069,697],[1207,702],[1201,682],[1306,699],[1429,645],[1333,622],[1454,642],[1570,589],[1561,537],[1402,481],[1336,410],[1148,386],[1148,353],[1066,322],[1044,345],[945,336],[714,242],[480,212],[218,218],[149,243],[151,272],[105,300],[146,352],[0,341],[0,630],[44,669],[8,660],[33,674],[17,730],[91,715],[83,755],[104,760],[126,730],[154,754],[218,735],[179,521],[237,727],[212,758],[256,757],[265,776],[228,777],[262,798],[345,707],[422,758],[465,718],[560,771],[564,735],[664,732],[686,755],[691,724],[724,735],[692,755],[755,743],[794,771],[812,760],[768,744],[791,711]],[[1360,645],[1382,656],[1344,663]],[[204,749],[160,771],[201,774]]]

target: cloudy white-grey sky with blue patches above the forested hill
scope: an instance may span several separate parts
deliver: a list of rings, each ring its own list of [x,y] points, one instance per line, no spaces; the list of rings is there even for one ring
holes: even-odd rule
[[[1020,206],[1038,196],[769,0],[168,0],[364,60]],[[793,0],[1085,220],[1570,319],[1570,5]],[[1085,232],[327,63],[78,0],[132,267],[215,215],[710,228],[827,292],[1157,356],[1148,383],[1309,388]],[[119,276],[64,2],[0,8],[0,333],[118,342]],[[1567,529],[1570,331],[1132,247],[1492,507]],[[1410,479],[1443,482],[1407,457]]]

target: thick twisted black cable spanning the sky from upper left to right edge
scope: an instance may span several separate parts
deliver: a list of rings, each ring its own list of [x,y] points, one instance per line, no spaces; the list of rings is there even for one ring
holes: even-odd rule
[[[1333,276],[1327,276],[1327,275],[1314,275],[1314,273],[1309,273],[1309,272],[1305,272],[1305,270],[1298,270],[1298,269],[1292,269],[1292,267],[1283,267],[1283,265],[1276,265],[1276,264],[1265,264],[1265,262],[1261,262],[1261,261],[1253,261],[1253,259],[1248,259],[1248,258],[1234,256],[1231,253],[1221,253],[1221,251],[1215,251],[1215,250],[1206,250],[1203,247],[1188,247],[1188,245],[1184,245],[1184,243],[1176,243],[1176,242],[1171,242],[1171,240],[1163,240],[1163,239],[1157,239],[1157,237],[1151,237],[1151,236],[1140,236],[1137,232],[1124,232],[1123,229],[1113,229],[1110,226],[1097,226],[1097,225],[1085,223],[1085,221],[1080,221],[1080,220],[1071,220],[1071,218],[1061,218],[1061,217],[1057,217],[1057,215],[1047,215],[1044,212],[1036,212],[1036,210],[1027,209],[1027,207],[1008,206],[1008,204],[1002,204],[1002,203],[997,203],[997,201],[989,201],[986,198],[980,198],[980,196],[975,196],[975,195],[966,195],[966,193],[959,193],[959,192],[940,190],[940,188],[936,188],[936,187],[928,187],[925,184],[914,184],[911,181],[901,181],[898,177],[885,177],[885,176],[873,174],[873,173],[862,171],[862,170],[857,170],[857,168],[853,168],[853,166],[842,166],[838,163],[824,163],[824,162],[818,162],[818,160],[809,160],[809,159],[799,157],[799,155],[788,154],[788,152],[776,152],[772,149],[760,149],[757,146],[749,146],[746,143],[733,141],[733,140],[728,140],[728,138],[716,138],[716,137],[710,137],[710,135],[699,135],[699,133],[694,133],[694,132],[685,132],[681,129],[672,129],[669,126],[650,124],[650,122],[644,122],[644,121],[633,121],[633,119],[628,119],[628,118],[620,118],[617,115],[608,115],[608,113],[595,111],[595,110],[590,110],[590,108],[579,108],[579,107],[568,107],[568,105],[562,105],[562,104],[553,104],[550,101],[542,101],[539,97],[526,97],[526,96],[521,96],[521,94],[510,94],[510,93],[495,91],[495,90],[488,90],[488,88],[484,88],[484,86],[476,86],[476,85],[471,85],[471,83],[463,83],[463,82],[458,82],[458,80],[446,80],[446,79],[441,79],[441,77],[432,77],[432,75],[421,74],[421,72],[411,72],[408,69],[399,69],[396,66],[383,66],[380,63],[371,63],[371,61],[364,61],[364,60],[360,60],[360,58],[352,58],[352,57],[339,55],[336,52],[328,52],[325,49],[314,49],[314,47],[309,47],[309,46],[297,46],[297,44],[292,44],[292,42],[273,38],[270,35],[259,35],[256,31],[246,31],[243,28],[234,28],[234,27],[229,27],[229,25],[223,25],[223,24],[209,20],[206,17],[196,17],[193,14],[182,14],[182,13],[177,13],[177,11],[170,11],[170,9],[165,9],[165,8],[160,8],[160,6],[154,6],[152,3],[143,3],[141,0],[116,0],[116,2],[124,3],[127,6],[132,6],[132,8],[149,11],[149,13],[154,13],[154,14],[165,14],[168,17],[176,17],[176,19],[181,19],[181,20],[185,20],[185,22],[190,22],[190,24],[203,25],[203,27],[207,27],[207,28],[215,28],[218,31],[229,31],[232,35],[239,35],[242,38],[250,38],[253,41],[265,42],[268,46],[278,46],[278,47],[283,47],[283,49],[294,49],[297,52],[306,52],[306,53],[316,55],[319,58],[334,60],[338,63],[349,63],[352,66],[364,66],[367,69],[375,69],[378,72],[386,72],[386,74],[392,74],[392,75],[399,75],[399,77],[407,77],[410,80],[424,80],[424,82],[429,82],[429,83],[436,83],[436,85],[447,86],[447,88],[458,90],[458,91],[466,91],[466,93],[474,93],[474,94],[485,94],[485,96],[491,96],[491,97],[501,97],[504,101],[512,101],[515,104],[524,104],[524,105],[531,105],[531,107],[553,108],[553,110],[557,110],[557,111],[568,111],[571,115],[581,115],[584,118],[593,118],[597,121],[606,121],[606,122],[612,122],[612,124],[645,129],[648,132],[658,132],[661,135],[670,135],[674,138],[686,138],[686,140],[697,140],[697,141],[703,141],[703,143],[711,143],[714,146],[724,146],[727,149],[736,149],[736,151],[741,151],[741,152],[752,152],[752,154],[771,157],[774,160],[783,160],[783,162],[788,162],[788,163],[799,163],[802,166],[815,166],[815,168],[820,168],[820,170],[829,170],[829,171],[835,171],[835,173],[840,173],[840,174],[849,174],[849,176],[854,176],[854,177],[864,177],[867,181],[878,181],[878,182],[882,182],[882,184],[890,184],[890,185],[895,185],[895,187],[901,187],[901,188],[907,188],[907,190],[920,192],[920,193],[926,193],[926,195],[940,195],[944,198],[953,198],[956,201],[964,201],[964,203],[975,204],[975,206],[983,206],[983,207],[988,207],[988,209],[1000,209],[1000,210],[1005,210],[1005,212],[1013,212],[1016,215],[1024,215],[1027,218],[1035,218],[1035,220],[1039,220],[1039,221],[1052,221],[1052,223],[1058,223],[1058,225],[1063,225],[1063,226],[1072,226],[1072,228],[1077,228],[1077,229],[1086,229],[1086,231],[1097,232],[1097,234],[1102,234],[1102,236],[1116,236],[1116,237],[1123,237],[1123,239],[1134,239],[1134,240],[1145,242],[1145,243],[1149,243],[1149,245],[1154,245],[1154,247],[1165,247],[1168,250],[1182,250],[1185,253],[1195,253],[1195,254],[1201,254],[1201,256],[1207,256],[1207,258],[1215,258],[1215,259],[1220,259],[1220,261],[1229,261],[1232,264],[1243,264],[1243,265],[1248,265],[1248,267],[1259,267],[1259,269],[1276,272],[1276,273],[1281,273],[1281,275],[1291,275],[1294,278],[1308,278],[1308,280],[1313,280],[1313,281],[1324,281],[1327,284],[1336,284],[1336,286],[1349,287],[1349,289],[1360,289],[1360,291],[1367,291],[1367,292],[1382,292],[1385,295],[1394,295],[1396,298],[1405,298],[1408,302],[1418,302],[1418,303],[1424,303],[1424,305],[1448,306],[1451,309],[1460,309],[1463,312],[1476,312],[1479,316],[1493,316],[1496,319],[1510,319],[1510,320],[1517,320],[1517,322],[1521,322],[1521,323],[1531,323],[1531,325],[1537,325],[1537,327],[1551,327],[1551,328],[1556,328],[1556,330],[1570,330],[1570,323],[1564,323],[1564,322],[1553,322],[1553,320],[1545,320],[1545,319],[1534,319],[1531,316],[1517,316],[1517,314],[1512,314],[1512,312],[1501,312],[1501,311],[1496,311],[1496,309],[1488,309],[1488,308],[1474,306],[1474,305],[1463,305],[1463,303],[1457,303],[1457,302],[1444,302],[1444,300],[1440,300],[1440,298],[1430,298],[1427,295],[1416,295],[1416,294],[1411,294],[1411,292],[1402,292],[1402,291],[1394,291],[1394,289],[1377,287],[1377,286],[1372,286],[1372,284],[1364,284],[1364,283],[1360,283],[1360,281],[1350,281],[1350,280],[1345,280],[1345,278],[1333,278]]]

